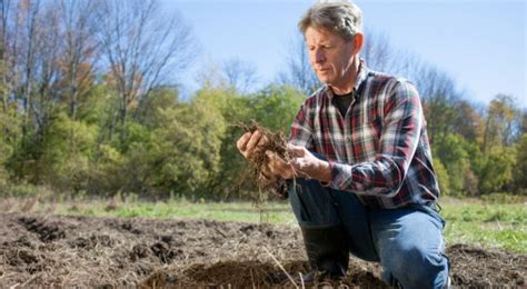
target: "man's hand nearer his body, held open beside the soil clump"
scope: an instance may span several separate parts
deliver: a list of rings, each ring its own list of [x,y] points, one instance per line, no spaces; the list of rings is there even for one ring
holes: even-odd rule
[[[286,179],[307,177],[324,182],[331,181],[329,162],[318,159],[304,147],[288,144],[288,151],[291,157],[290,163],[287,163],[272,151],[266,151],[269,158],[269,169],[272,173]]]

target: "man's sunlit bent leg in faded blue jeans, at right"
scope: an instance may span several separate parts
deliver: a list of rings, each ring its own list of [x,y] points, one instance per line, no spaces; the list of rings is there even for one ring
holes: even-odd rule
[[[445,288],[449,268],[444,255],[445,222],[439,213],[406,208],[369,215],[385,282],[398,282],[402,288]]]

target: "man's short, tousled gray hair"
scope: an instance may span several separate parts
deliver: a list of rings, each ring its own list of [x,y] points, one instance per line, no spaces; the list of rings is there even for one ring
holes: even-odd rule
[[[327,29],[345,40],[351,40],[357,32],[362,32],[362,11],[358,6],[346,0],[319,1],[311,6],[298,22],[298,29]]]

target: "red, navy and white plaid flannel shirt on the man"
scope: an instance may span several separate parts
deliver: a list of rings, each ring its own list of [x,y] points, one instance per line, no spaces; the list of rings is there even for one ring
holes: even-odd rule
[[[410,82],[369,70],[361,60],[346,116],[324,86],[300,108],[289,141],[324,156],[334,189],[368,208],[435,206],[434,172],[419,94]]]

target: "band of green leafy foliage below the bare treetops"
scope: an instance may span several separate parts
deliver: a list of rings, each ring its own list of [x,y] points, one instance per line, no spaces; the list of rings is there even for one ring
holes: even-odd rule
[[[236,148],[243,133],[239,124],[255,120],[287,136],[305,100],[298,90],[276,84],[243,94],[210,82],[189,101],[179,100],[172,87],[159,87],[130,100],[122,124],[122,103],[108,83],[89,86],[74,119],[63,100],[52,103],[38,126],[38,116],[26,116],[14,102],[8,112],[0,111],[0,187],[13,182],[90,195],[255,199],[250,168]],[[470,103],[447,97],[425,103],[444,196],[527,191],[527,140],[519,137],[511,103],[498,96],[485,117]]]

